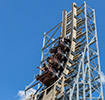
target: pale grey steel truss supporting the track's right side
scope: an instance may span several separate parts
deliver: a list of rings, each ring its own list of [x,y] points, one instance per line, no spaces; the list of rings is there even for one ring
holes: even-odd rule
[[[95,10],[84,2],[77,7],[78,12],[75,47],[79,47],[75,49],[78,58],[75,61],[77,65],[72,67],[77,75],[68,83],[68,97],[69,100],[103,100]]]

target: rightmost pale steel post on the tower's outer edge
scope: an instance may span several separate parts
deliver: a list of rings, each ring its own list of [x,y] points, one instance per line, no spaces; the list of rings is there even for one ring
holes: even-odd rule
[[[98,55],[99,75],[101,75],[99,48],[98,48],[98,39],[97,39],[97,27],[96,27],[96,18],[95,18],[95,10],[94,9],[93,9],[93,16],[94,16],[94,24],[95,24],[95,36],[96,36],[96,48],[97,48],[97,55]],[[102,96],[102,100],[104,100],[101,76],[100,76],[100,84],[101,84],[101,96]]]

